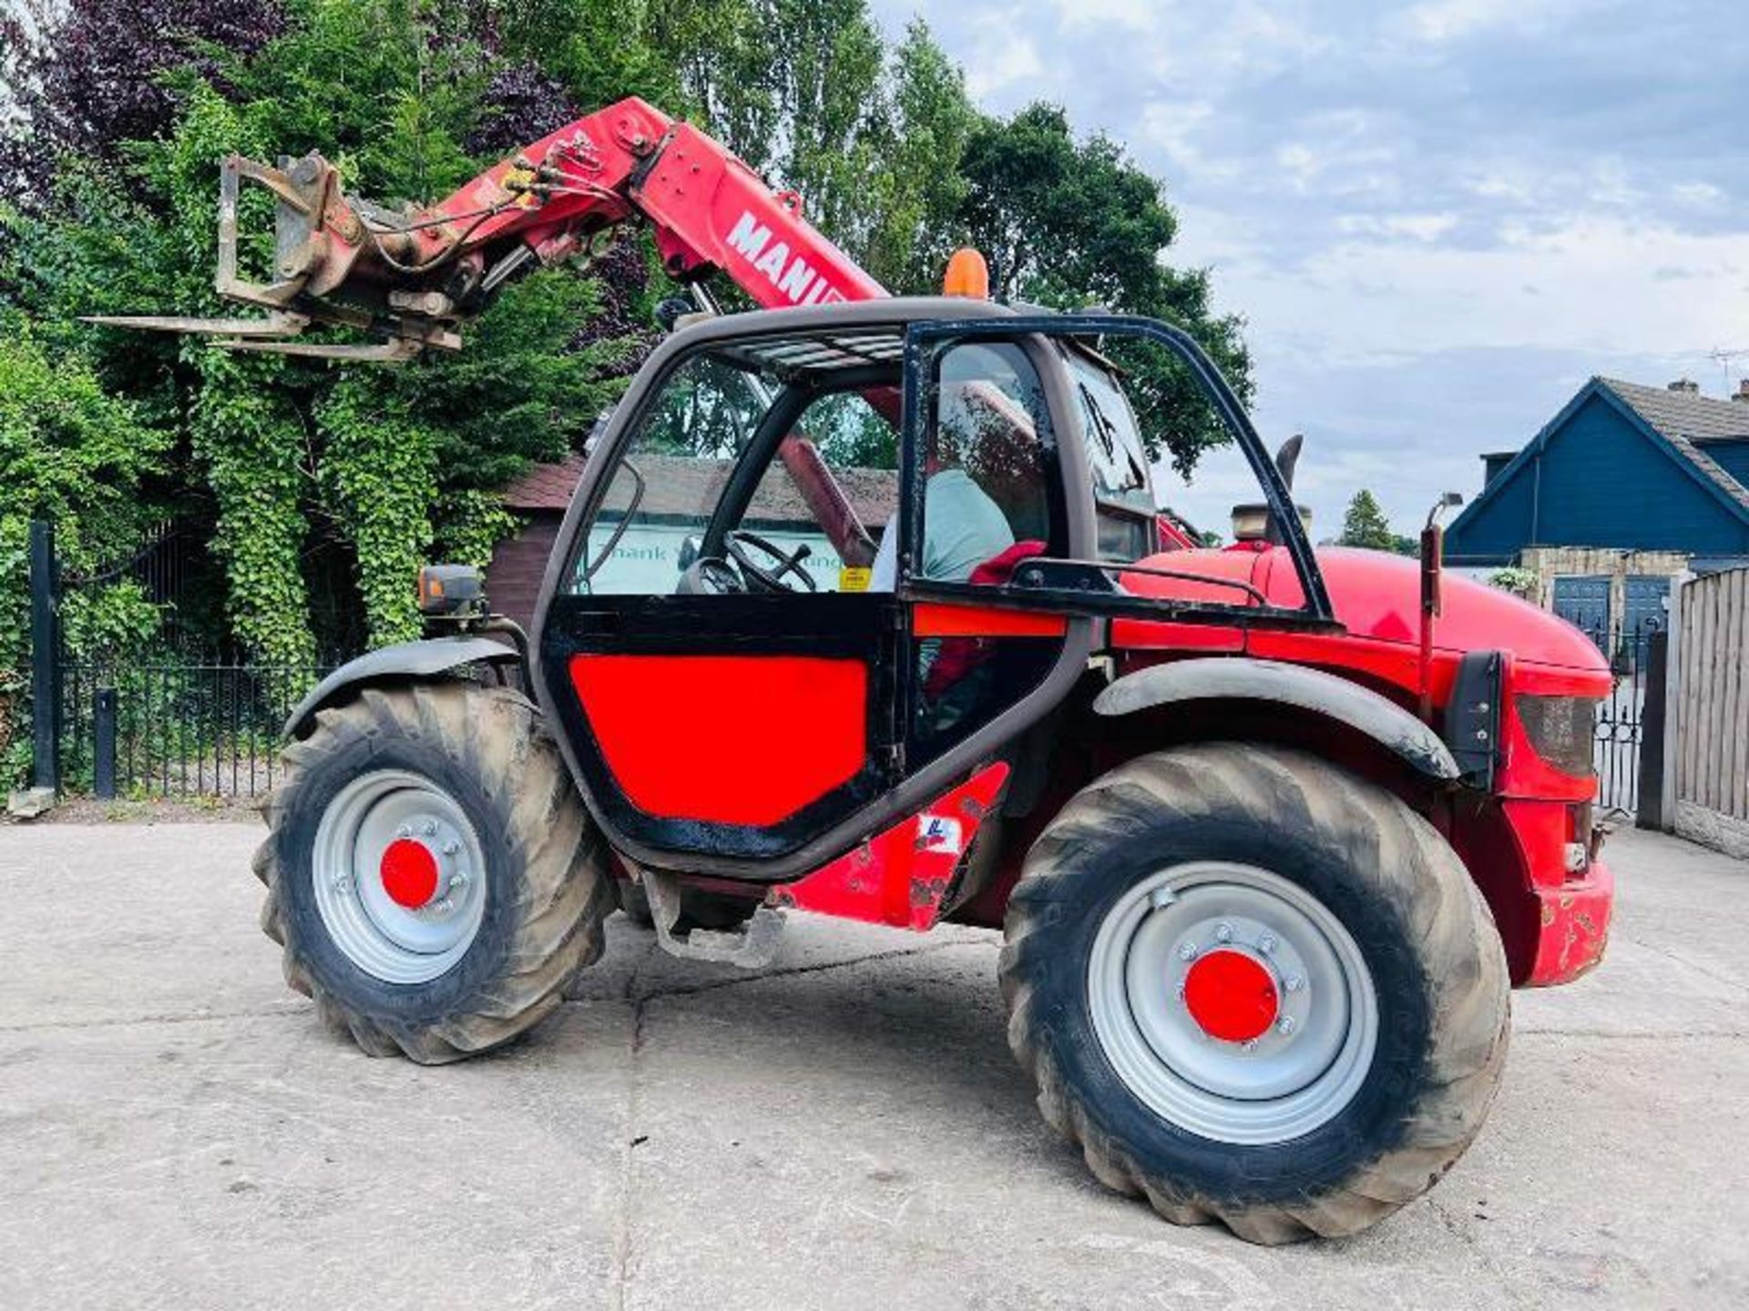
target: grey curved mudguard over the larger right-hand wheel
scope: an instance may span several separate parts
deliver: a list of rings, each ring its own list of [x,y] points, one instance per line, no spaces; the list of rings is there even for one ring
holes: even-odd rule
[[[1427,778],[1460,771],[1439,734],[1394,701],[1333,673],[1277,661],[1216,657],[1126,673],[1093,701],[1100,715],[1133,715],[1174,701],[1273,701],[1327,715],[1396,752]]]

